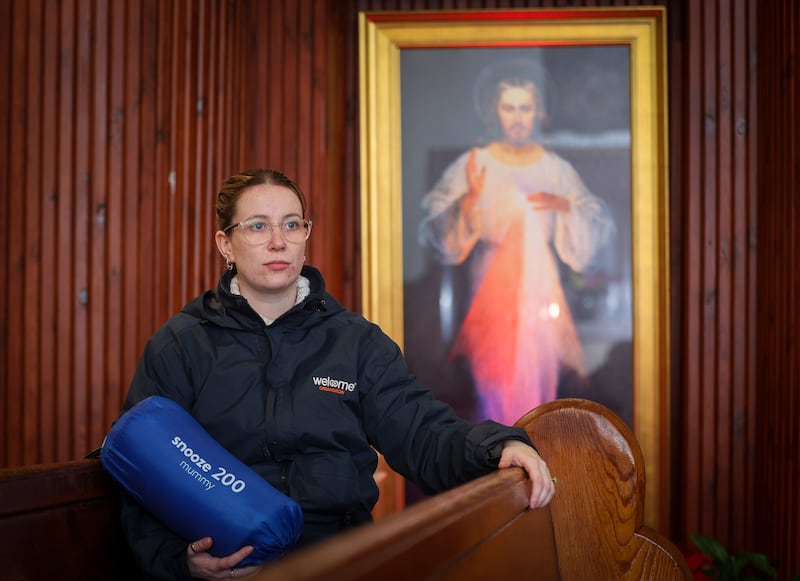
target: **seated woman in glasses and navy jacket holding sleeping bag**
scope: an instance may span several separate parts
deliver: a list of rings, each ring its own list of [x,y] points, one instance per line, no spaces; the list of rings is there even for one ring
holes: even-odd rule
[[[457,418],[416,383],[397,345],[345,310],[319,271],[304,266],[305,215],[303,193],[280,172],[247,171],[225,182],[215,238],[227,270],[215,290],[150,339],[124,408],[151,395],[178,402],[300,504],[298,546],[371,520],[373,447],[431,493],[520,466],[533,481],[530,506],[546,505],[554,486],[523,430]],[[212,538],[181,539],[130,498],[122,521],[153,578],[240,578],[258,570],[236,568],[251,547],[213,557]]]

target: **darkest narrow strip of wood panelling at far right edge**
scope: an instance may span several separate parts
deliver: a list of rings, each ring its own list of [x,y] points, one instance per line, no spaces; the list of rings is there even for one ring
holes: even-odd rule
[[[758,548],[800,573],[800,4],[759,3]]]

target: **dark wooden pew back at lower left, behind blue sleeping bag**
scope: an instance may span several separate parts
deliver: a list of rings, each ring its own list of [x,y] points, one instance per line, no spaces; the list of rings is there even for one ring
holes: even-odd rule
[[[0,578],[136,578],[117,489],[99,460],[0,470]]]

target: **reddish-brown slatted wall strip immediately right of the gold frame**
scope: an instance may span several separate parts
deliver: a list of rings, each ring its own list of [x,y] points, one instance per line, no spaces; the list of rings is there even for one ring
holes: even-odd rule
[[[755,49],[750,1],[685,4],[683,464],[677,535],[753,542]]]

